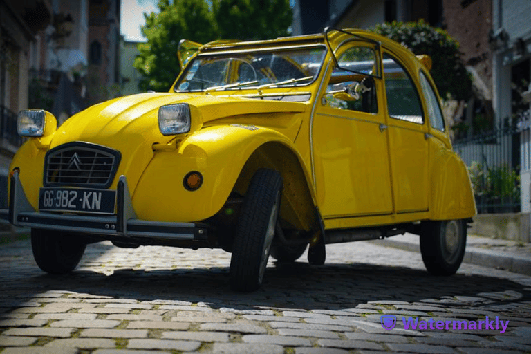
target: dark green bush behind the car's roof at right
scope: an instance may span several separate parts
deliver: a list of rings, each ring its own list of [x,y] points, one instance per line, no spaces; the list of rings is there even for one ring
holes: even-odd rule
[[[472,80],[461,59],[458,42],[448,32],[418,22],[377,24],[373,32],[398,41],[415,55],[427,54],[433,62],[431,76],[443,97],[467,100],[472,93]]]

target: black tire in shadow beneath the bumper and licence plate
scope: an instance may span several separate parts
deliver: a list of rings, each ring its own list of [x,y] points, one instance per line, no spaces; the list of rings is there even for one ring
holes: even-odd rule
[[[85,252],[80,236],[59,231],[31,229],[33,258],[41,270],[65,274],[74,270]]]

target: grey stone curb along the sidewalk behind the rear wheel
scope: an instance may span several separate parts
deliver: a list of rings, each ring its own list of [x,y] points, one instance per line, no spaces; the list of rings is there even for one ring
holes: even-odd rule
[[[420,245],[418,243],[395,241],[391,239],[369,242],[374,243],[375,245],[420,253]],[[510,252],[467,247],[465,249],[463,263],[482,265],[483,267],[489,268],[501,268],[504,270],[510,270],[514,273],[531,275],[531,258],[522,257]]]

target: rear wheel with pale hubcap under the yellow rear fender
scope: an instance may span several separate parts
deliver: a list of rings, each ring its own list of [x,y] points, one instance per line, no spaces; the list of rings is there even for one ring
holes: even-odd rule
[[[467,225],[463,220],[425,221],[420,233],[420,253],[433,275],[451,275],[465,256]]]

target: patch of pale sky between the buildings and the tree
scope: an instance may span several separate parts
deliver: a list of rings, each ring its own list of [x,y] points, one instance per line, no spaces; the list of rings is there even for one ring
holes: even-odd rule
[[[158,0],[122,0],[120,15],[120,32],[126,41],[146,41],[140,33],[140,26],[145,24],[144,12],[157,12]]]

